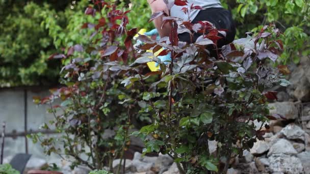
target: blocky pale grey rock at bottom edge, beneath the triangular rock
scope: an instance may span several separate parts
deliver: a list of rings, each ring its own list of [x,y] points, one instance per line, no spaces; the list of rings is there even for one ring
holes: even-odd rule
[[[273,154],[269,157],[271,172],[283,172],[288,174],[302,173],[301,160],[285,154]]]

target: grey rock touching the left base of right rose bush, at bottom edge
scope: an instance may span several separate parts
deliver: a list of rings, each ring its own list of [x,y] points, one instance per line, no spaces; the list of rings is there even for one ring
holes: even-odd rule
[[[173,163],[173,159],[169,155],[159,154],[151,170],[154,172],[163,173],[167,171],[170,165]]]

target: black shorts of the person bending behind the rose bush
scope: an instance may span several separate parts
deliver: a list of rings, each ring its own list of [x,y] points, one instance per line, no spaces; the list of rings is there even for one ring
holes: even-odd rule
[[[222,39],[218,40],[217,47],[221,48],[234,41],[236,36],[236,26],[231,16],[231,13],[223,8],[208,8],[201,10],[192,23],[197,23],[198,21],[209,21],[215,25],[217,29],[227,29],[226,37],[219,34]],[[196,42],[197,38],[201,36],[200,33],[195,33],[193,37],[193,42]],[[189,33],[182,33],[178,35],[179,41],[190,43]],[[212,49],[212,48],[211,48]],[[210,49],[209,49],[210,50]],[[211,55],[214,54],[214,50],[210,50]]]

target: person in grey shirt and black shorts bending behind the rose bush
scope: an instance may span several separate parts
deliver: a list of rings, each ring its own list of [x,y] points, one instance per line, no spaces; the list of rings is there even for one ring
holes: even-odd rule
[[[168,0],[169,2],[171,0]],[[165,11],[168,13],[168,9],[166,4],[164,3],[164,0],[147,0],[152,13],[158,12],[158,11]],[[233,17],[231,16],[231,13],[224,9],[220,3],[219,0],[188,0],[188,5],[191,6],[194,4],[194,6],[200,6],[202,9],[194,9],[190,12],[190,16],[188,14],[185,14],[182,10],[182,6],[172,6],[170,14],[173,17],[179,17],[185,21],[190,21],[192,23],[197,23],[198,21],[209,21],[213,23],[215,28],[217,29],[226,29],[226,36],[219,34],[220,37],[222,37],[220,40],[217,41],[217,48],[221,48],[224,45],[227,45],[234,41],[235,35],[236,35],[236,26],[233,20]],[[169,36],[171,30],[169,23],[166,23],[162,27],[162,20],[163,15],[161,17],[158,17],[153,20],[153,23],[156,27],[156,30],[150,31],[145,33],[145,35],[154,35],[158,34],[161,38]],[[197,40],[199,36],[202,34],[195,33],[193,37],[193,42]],[[189,33],[181,33],[178,34],[179,41],[188,42],[190,41],[190,35]],[[211,55],[216,56],[214,50],[210,50]],[[167,57],[160,57],[162,59],[167,60]]]

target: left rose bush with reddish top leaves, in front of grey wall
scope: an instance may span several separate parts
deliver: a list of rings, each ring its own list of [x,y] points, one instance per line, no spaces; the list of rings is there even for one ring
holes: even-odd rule
[[[114,3],[90,4],[85,11],[89,21],[80,29],[87,30],[87,41],[49,57],[61,59],[64,64],[60,79],[63,86],[51,89],[46,98],[34,97],[36,103],[49,105],[48,112],[55,116],[41,128],[56,129],[61,136],[30,137],[41,143],[47,155],[56,153],[61,158],[73,158],[71,167],[108,166],[113,171],[113,160],[123,158],[131,144],[128,136],[133,127],[131,120],[150,123],[143,115],[135,114],[138,109],[132,98],[140,93],[139,89],[126,90],[120,85],[124,75],[109,69],[116,64],[113,61],[125,64],[130,59],[131,52],[118,47],[120,43],[116,40],[126,31],[127,13],[118,10]],[[108,129],[115,134],[105,135]],[[119,171],[120,167],[116,173]]]

